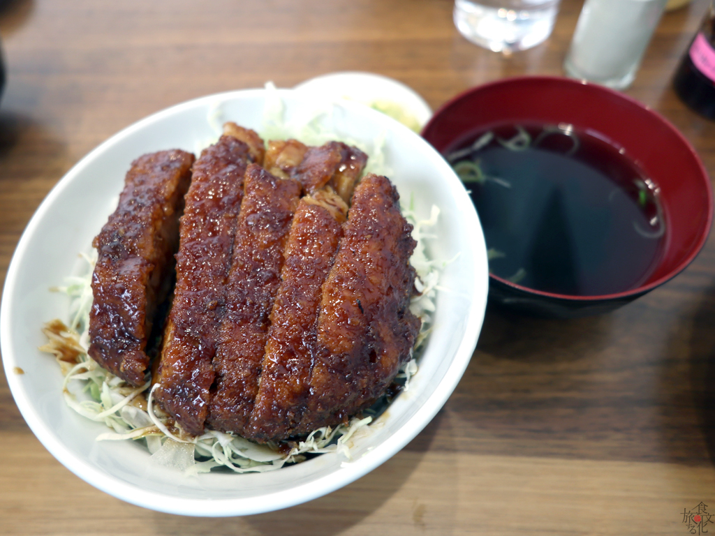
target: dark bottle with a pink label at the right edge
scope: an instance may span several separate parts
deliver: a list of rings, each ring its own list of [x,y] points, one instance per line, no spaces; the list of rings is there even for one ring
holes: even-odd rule
[[[715,0],[683,56],[673,85],[691,109],[715,119]]]

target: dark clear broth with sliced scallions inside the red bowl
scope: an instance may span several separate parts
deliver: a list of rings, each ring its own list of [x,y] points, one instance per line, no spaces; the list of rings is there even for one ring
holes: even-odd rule
[[[498,124],[445,156],[470,191],[496,276],[598,296],[635,289],[658,264],[666,235],[659,190],[597,133]]]

